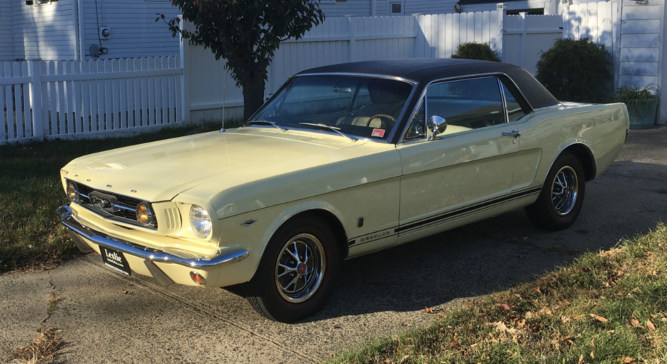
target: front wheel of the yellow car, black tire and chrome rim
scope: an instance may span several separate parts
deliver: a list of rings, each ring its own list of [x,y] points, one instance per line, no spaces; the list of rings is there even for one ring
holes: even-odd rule
[[[286,251],[288,246],[289,251]],[[299,260],[290,257],[294,247],[299,252]],[[315,250],[321,251],[316,253]],[[304,252],[311,255],[304,256]],[[279,257],[284,264],[280,267]],[[324,264],[319,279],[317,262]],[[296,269],[287,270],[283,268],[285,265]],[[340,268],[338,242],[331,228],[314,217],[296,218],[282,226],[269,241],[257,272],[246,286],[246,298],[253,309],[268,319],[285,323],[304,319],[319,311],[329,299]],[[297,281],[289,285],[294,280],[292,277]],[[283,285],[295,292],[286,292]]]

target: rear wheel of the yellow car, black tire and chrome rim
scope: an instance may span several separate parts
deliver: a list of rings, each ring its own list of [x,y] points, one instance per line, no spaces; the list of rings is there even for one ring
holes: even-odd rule
[[[567,188],[558,184],[561,180],[568,183]],[[573,183],[576,184],[574,188]],[[558,192],[561,194],[556,195]],[[579,159],[570,153],[560,155],[546,175],[537,201],[526,207],[528,219],[538,228],[548,231],[569,228],[579,216],[585,192],[585,174]],[[568,199],[572,198],[568,203]]]

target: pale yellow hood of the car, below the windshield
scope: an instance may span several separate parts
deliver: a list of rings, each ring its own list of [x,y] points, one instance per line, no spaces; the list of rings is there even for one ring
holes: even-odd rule
[[[326,133],[238,128],[86,155],[72,160],[62,175],[94,189],[158,202],[226,175],[257,175],[271,165],[298,165],[302,158],[365,144],[389,146]]]

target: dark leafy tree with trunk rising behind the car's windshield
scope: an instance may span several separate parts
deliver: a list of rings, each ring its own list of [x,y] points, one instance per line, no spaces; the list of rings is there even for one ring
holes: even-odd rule
[[[324,21],[324,13],[313,0],[172,0],[184,21],[194,31],[184,29],[180,18],[166,19],[172,36],[180,35],[189,44],[203,45],[216,60],[226,60],[225,68],[243,89],[243,116],[248,120],[262,106],[268,66],[280,42],[302,38]]]

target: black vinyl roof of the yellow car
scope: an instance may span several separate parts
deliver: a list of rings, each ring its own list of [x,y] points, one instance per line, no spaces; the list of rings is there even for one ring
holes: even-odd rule
[[[436,79],[465,77],[487,73],[502,73],[511,78],[533,109],[553,106],[558,100],[533,75],[509,63],[451,58],[409,58],[341,63],[312,68],[297,75],[314,73],[365,73],[401,77],[419,82],[420,88]]]

